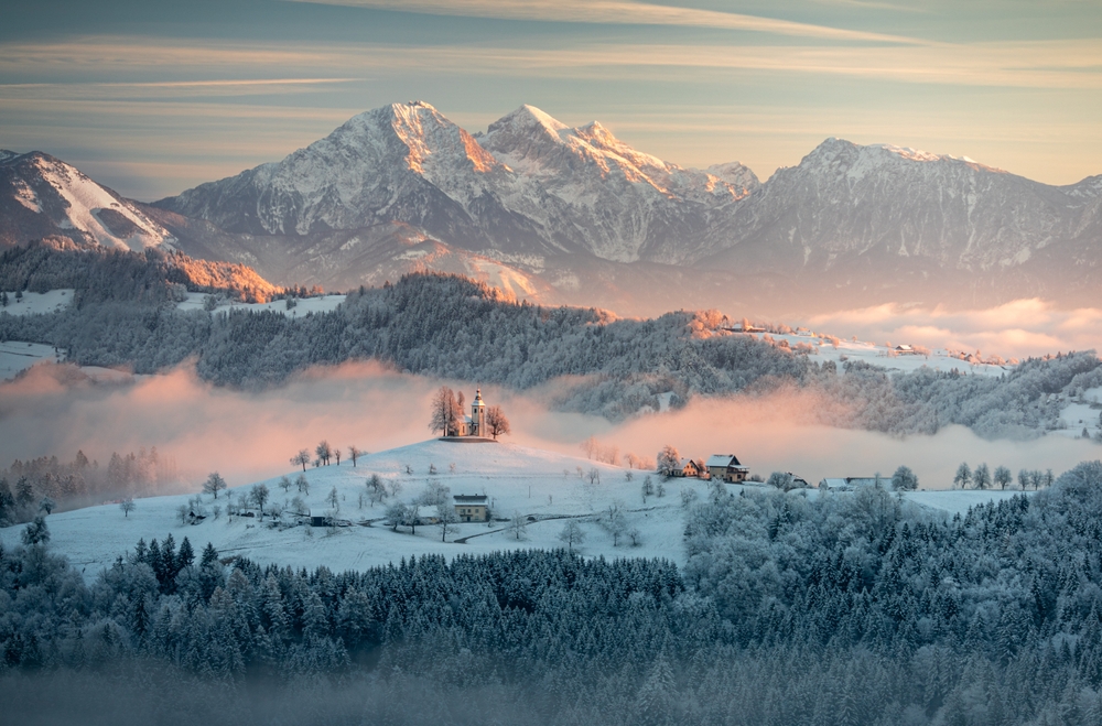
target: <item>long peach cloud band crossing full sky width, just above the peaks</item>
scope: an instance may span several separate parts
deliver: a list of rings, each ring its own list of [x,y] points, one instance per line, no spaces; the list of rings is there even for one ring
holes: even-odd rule
[[[689,44],[579,44],[571,47],[272,45],[202,43],[168,45],[141,39],[95,37],[65,44],[0,46],[0,74],[42,74],[51,68],[99,73],[206,74],[227,66],[246,74],[263,68],[280,75],[309,74],[310,83],[339,83],[368,72],[410,71],[434,75],[571,77],[609,80],[651,77],[669,69],[701,73],[758,72],[835,75],[898,83],[1020,88],[1102,88],[1102,43],[1094,40],[975,43],[932,46],[716,46]],[[121,46],[120,46],[121,45]],[[339,73],[349,78],[334,77]],[[321,77],[315,77],[321,76]],[[89,82],[99,83],[99,78]],[[155,78],[156,84],[214,83]],[[136,79],[141,83],[144,79]],[[233,84],[269,83],[217,79]],[[273,84],[279,80],[270,82]],[[290,83],[284,79],[283,83]]]

